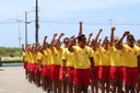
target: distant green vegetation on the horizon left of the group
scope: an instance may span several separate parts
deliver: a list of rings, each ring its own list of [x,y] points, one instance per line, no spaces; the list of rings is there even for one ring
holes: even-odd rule
[[[21,48],[0,47],[0,57],[22,57]]]

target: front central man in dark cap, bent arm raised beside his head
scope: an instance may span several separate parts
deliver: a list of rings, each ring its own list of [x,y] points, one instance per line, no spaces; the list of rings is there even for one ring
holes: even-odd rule
[[[91,47],[85,46],[86,37],[84,34],[79,35],[78,45],[72,46],[75,39],[77,37],[73,37],[68,48],[71,53],[73,53],[75,57],[74,74],[73,74],[74,92],[88,93],[88,88],[90,84],[90,74],[91,74],[90,66],[94,67],[94,59],[92,56],[93,50]]]

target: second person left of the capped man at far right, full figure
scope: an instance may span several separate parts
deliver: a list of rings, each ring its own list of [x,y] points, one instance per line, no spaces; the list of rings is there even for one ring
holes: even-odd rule
[[[97,47],[98,56],[100,56],[98,78],[100,78],[102,93],[105,93],[105,91],[106,93],[109,93],[110,53],[109,53],[109,40],[107,36],[104,38],[102,46]]]

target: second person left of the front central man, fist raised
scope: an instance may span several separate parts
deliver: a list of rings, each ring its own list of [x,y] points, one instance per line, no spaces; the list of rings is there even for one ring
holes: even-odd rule
[[[51,67],[50,67],[50,77],[52,80],[52,91],[54,93],[61,93],[61,81],[59,80],[60,77],[60,67],[62,63],[62,47],[60,46],[60,38],[63,36],[61,33],[58,39],[55,39],[57,34],[54,34],[54,38],[50,44],[51,50]]]

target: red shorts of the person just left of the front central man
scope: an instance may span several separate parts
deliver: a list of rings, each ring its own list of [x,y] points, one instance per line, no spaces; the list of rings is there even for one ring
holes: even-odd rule
[[[68,81],[72,83],[73,83],[73,73],[74,73],[74,68],[67,67],[67,78],[68,78]]]

